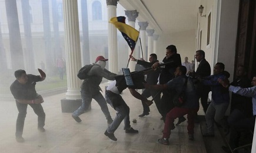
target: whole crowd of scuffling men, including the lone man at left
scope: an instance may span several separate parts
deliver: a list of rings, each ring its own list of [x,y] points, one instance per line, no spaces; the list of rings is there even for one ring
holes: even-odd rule
[[[130,125],[129,107],[121,97],[124,89],[128,88],[131,95],[141,100],[143,112],[139,117],[149,115],[149,106],[152,101],[147,98],[152,97],[158,109],[161,119],[164,121],[162,138],[158,139],[160,144],[168,145],[171,131],[175,128],[174,120],[178,118],[176,126],[184,122],[187,115],[188,138],[194,139],[194,124],[198,120],[198,109],[201,101],[207,122],[207,132],[204,137],[214,137],[214,123],[223,128],[226,135],[230,134],[231,149],[240,144],[241,134],[246,130],[254,129],[256,115],[256,76],[252,81],[247,77],[247,68],[240,65],[237,68],[236,79],[229,82],[230,74],[225,71],[225,65],[217,62],[211,75],[211,66],[205,59],[205,52],[198,50],[195,52],[195,59],[198,67],[195,71],[194,61],[192,64],[185,57],[185,62],[181,63],[181,56],[177,53],[175,45],[166,48],[166,56],[162,61],[158,61],[156,54],[149,55],[149,62],[143,59],[135,59],[130,56],[137,65],[143,66],[147,71],[131,72],[134,85],[126,84],[124,75],[117,75],[105,69],[106,61],[103,56],[98,56],[94,64],[85,65],[80,69],[78,77],[83,79],[81,85],[82,105],[72,113],[72,118],[81,122],[79,115],[84,114],[91,104],[92,99],[98,102],[104,113],[108,128],[105,135],[117,141],[114,135],[115,130],[124,120],[124,130],[126,133],[138,133]],[[152,69],[148,69],[152,68]],[[16,141],[24,142],[22,131],[26,117],[27,105],[30,105],[35,114],[38,115],[38,130],[44,132],[45,113],[41,103],[44,102],[41,95],[36,94],[35,82],[43,81],[45,73],[38,69],[40,75],[26,74],[24,70],[15,71],[16,80],[10,89],[16,100],[19,111],[16,121]],[[147,79],[144,79],[147,75]],[[105,98],[101,94],[102,78],[112,80],[105,91]],[[253,87],[252,87],[253,86]],[[145,89],[144,89],[145,88]],[[142,94],[136,89],[144,89]],[[208,95],[211,91],[211,101]],[[225,118],[225,112],[230,105],[230,94],[232,91],[231,113]],[[251,99],[252,98],[252,99]],[[107,104],[117,111],[117,115],[112,119]],[[229,152],[228,147],[222,149]]]

